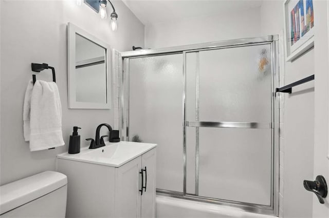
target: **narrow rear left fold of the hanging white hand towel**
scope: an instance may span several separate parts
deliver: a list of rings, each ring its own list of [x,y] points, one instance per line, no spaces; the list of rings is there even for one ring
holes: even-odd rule
[[[33,81],[30,80],[24,97],[23,106],[23,132],[24,140],[27,142],[30,140],[30,111],[31,111],[31,95],[33,90]]]

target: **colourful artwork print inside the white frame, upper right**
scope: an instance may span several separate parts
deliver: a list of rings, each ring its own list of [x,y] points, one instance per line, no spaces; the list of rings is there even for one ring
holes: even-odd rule
[[[299,0],[290,12],[290,45],[297,43],[313,27],[313,0]]]

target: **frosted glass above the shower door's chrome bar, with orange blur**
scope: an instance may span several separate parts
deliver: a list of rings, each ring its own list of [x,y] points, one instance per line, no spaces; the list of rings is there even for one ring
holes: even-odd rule
[[[187,83],[197,72],[199,121],[271,122],[269,45],[187,54]],[[191,106],[195,91],[188,87],[187,102]],[[188,107],[188,121],[194,121],[193,114],[195,106]]]

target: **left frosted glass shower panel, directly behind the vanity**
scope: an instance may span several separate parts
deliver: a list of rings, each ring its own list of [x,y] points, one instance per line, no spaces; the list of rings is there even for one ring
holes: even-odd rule
[[[156,143],[156,188],[182,192],[182,54],[129,63],[130,141]]]

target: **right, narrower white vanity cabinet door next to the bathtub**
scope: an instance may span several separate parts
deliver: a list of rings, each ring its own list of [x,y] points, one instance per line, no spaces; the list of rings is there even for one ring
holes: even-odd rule
[[[142,155],[142,169],[144,170],[144,187],[141,197],[141,217],[155,217],[155,170],[156,149],[152,149]],[[145,171],[146,169],[146,171]],[[146,174],[146,175],[145,175]]]

